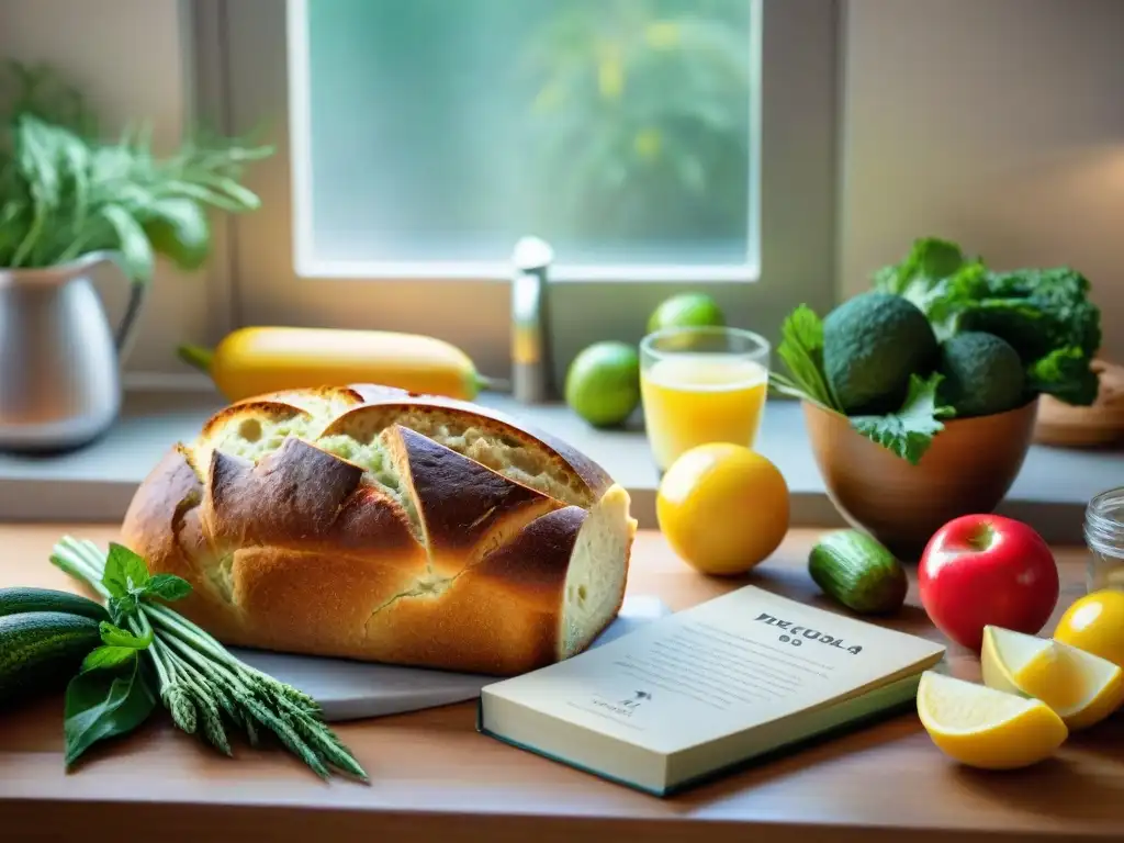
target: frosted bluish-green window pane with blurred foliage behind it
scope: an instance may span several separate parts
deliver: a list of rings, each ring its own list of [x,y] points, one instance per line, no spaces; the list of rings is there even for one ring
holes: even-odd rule
[[[752,262],[750,7],[308,0],[310,256]]]

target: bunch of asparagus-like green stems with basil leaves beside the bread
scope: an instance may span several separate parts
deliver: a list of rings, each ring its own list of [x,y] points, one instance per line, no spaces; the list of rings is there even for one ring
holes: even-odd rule
[[[64,536],[51,561],[106,599],[112,623],[101,646],[66,688],[66,764],[98,741],[132,732],[158,698],[175,725],[230,755],[227,729],[250,744],[272,733],[321,778],[333,769],[366,781],[366,773],[324,724],[308,695],[238,661],[218,641],[164,605],[191,592],[172,574],[148,573],[129,549]]]

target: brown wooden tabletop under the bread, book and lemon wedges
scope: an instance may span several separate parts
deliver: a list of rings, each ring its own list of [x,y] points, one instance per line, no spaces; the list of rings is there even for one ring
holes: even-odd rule
[[[63,533],[99,544],[116,536],[101,525],[0,526],[0,586],[74,588],[47,562]],[[694,573],[659,534],[642,533],[629,592],[681,609],[754,582],[825,605],[804,569],[815,536],[794,532],[752,577],[718,581]],[[1085,552],[1055,554],[1060,614],[1084,592]],[[913,590],[894,625],[937,637]],[[973,656],[952,646],[950,661],[957,674],[978,678]],[[67,774],[61,705],[51,698],[0,715],[0,840],[148,839],[145,828],[161,843],[303,842],[321,832],[334,843],[1124,840],[1121,715],[1072,736],[1054,760],[987,773],[952,763],[906,713],[659,799],[479,735],[471,704],[342,725],[370,786],[324,783],[278,751],[238,747],[235,760],[221,758],[174,731],[162,710]]]

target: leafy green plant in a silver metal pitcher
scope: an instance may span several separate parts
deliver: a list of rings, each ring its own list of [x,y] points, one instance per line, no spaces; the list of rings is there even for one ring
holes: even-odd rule
[[[144,124],[103,139],[83,97],[48,67],[10,63],[3,80],[0,447],[69,448],[117,417],[119,361],[157,256],[199,269],[209,215],[257,208],[239,178],[272,149],[199,136],[161,156]],[[101,264],[130,284],[116,329],[90,281]]]

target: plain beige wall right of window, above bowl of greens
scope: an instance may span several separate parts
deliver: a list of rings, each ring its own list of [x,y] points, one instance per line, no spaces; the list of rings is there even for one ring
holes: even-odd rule
[[[1124,359],[1124,2],[850,0],[840,288],[924,234],[1068,263]]]

